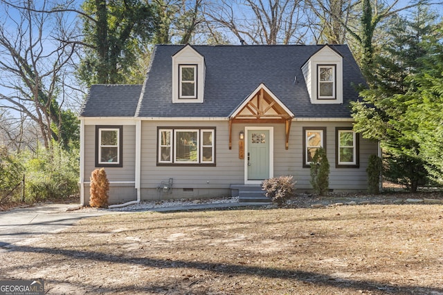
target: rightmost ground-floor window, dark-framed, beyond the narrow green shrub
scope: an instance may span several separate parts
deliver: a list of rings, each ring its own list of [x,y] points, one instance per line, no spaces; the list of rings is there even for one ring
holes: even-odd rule
[[[336,128],[336,166],[359,166],[359,136],[351,128]]]

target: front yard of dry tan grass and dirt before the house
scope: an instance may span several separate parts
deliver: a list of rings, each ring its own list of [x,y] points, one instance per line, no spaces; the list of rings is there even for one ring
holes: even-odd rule
[[[48,294],[443,294],[443,206],[116,213],[0,260]]]

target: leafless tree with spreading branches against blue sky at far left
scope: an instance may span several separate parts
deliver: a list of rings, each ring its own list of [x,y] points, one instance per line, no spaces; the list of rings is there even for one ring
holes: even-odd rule
[[[49,149],[52,140],[60,141],[64,74],[75,50],[62,40],[74,39],[76,28],[62,12],[39,13],[30,0],[24,5],[1,3],[0,107],[35,122]],[[45,10],[48,3],[41,5]]]

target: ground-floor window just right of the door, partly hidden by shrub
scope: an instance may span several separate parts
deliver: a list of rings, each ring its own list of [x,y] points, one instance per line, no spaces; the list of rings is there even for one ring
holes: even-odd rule
[[[303,166],[309,167],[316,151],[326,148],[326,129],[324,127],[303,128]]]

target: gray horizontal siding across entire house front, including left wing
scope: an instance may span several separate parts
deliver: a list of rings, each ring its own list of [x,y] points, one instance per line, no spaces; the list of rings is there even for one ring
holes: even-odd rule
[[[249,126],[260,126],[250,124]],[[215,127],[216,136],[216,166],[156,166],[157,161],[157,127]],[[226,121],[144,121],[142,122],[141,140],[141,192],[142,198],[159,198],[161,192],[157,191],[162,181],[174,180],[174,198],[180,196],[211,196],[212,192],[221,192],[229,189],[230,184],[242,184],[244,182],[244,160],[238,158],[238,134],[244,130],[245,124],[233,124],[232,149],[228,149],[228,122]],[[335,137],[336,126],[351,126],[350,122],[293,122],[289,137],[289,149],[284,149],[284,125],[262,124],[273,126],[274,131],[274,176],[293,175],[296,180],[296,188],[300,191],[311,189],[309,168],[302,167],[302,128],[326,127],[327,129],[327,156],[329,160],[330,175],[329,188],[336,190],[359,190],[366,189],[367,177],[365,173],[368,157],[377,154],[377,143],[360,139],[360,167],[336,168],[335,167]],[[109,181],[118,182],[135,181],[135,126],[123,127],[123,167],[105,168]],[[88,182],[91,171],[95,169],[95,126],[85,126],[85,181]],[[127,184],[122,184],[127,187]],[[183,191],[183,189],[195,189],[195,193]],[[127,189],[125,189],[127,190]],[[115,190],[116,192],[118,191]],[[150,196],[143,196],[148,193]],[[123,193],[125,194],[125,193]],[[131,195],[131,196],[129,196]],[[125,200],[135,198],[131,190]],[[115,196],[116,197],[116,196]]]

